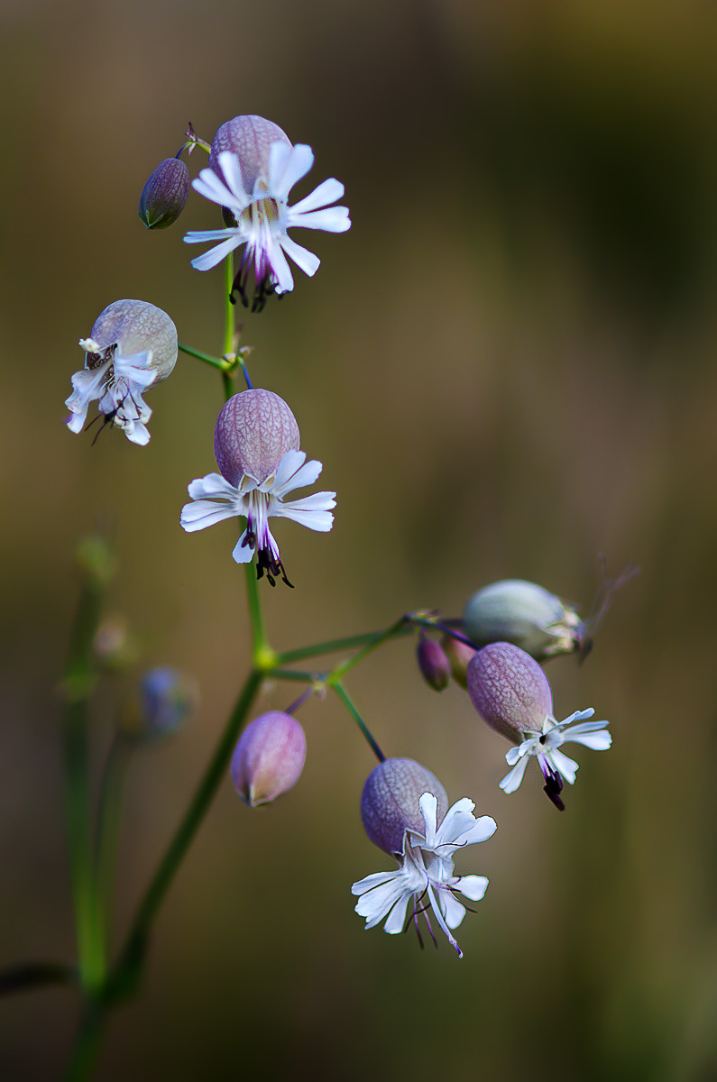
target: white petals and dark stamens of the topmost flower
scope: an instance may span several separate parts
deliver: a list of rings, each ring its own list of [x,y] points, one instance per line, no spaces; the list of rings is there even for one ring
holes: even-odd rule
[[[236,225],[225,229],[193,230],[184,240],[188,245],[219,241],[214,248],[192,260],[197,270],[209,270],[230,252],[246,245],[242,265],[232,292],[238,289],[246,305],[246,283],[253,264],[256,292],[253,311],[263,307],[266,296],[294,289],[294,277],[286,260],[288,255],[305,274],[318,269],[320,260],[287,235],[295,226],[344,233],[351,226],[347,207],[329,207],[343,195],[337,180],[324,181],[311,195],[288,206],[289,192],[311,169],[314,155],[310,146],[277,141],[271,144],[266,169],[257,175],[251,186],[245,185],[242,164],[236,154],[224,150],[218,155],[224,180],[213,169],[203,169],[192,186],[212,202],[227,208]]]

